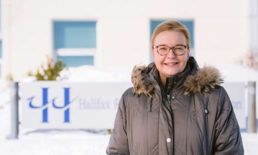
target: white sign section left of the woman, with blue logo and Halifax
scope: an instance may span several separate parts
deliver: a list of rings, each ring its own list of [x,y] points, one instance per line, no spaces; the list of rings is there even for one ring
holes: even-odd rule
[[[112,129],[131,83],[21,83],[22,126]]]

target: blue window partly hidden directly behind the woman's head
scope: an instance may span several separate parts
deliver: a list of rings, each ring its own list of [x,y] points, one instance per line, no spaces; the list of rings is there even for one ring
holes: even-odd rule
[[[150,37],[152,36],[153,31],[157,27],[157,25],[163,21],[165,21],[165,20],[151,20],[150,21]],[[178,21],[181,22],[182,24],[184,24],[189,30],[190,46],[191,46],[190,55],[194,56],[194,21],[193,20],[178,20]],[[151,61],[153,61],[152,56],[151,56]]]

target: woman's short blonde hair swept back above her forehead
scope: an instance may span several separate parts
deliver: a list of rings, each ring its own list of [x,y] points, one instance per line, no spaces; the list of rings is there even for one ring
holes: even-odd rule
[[[156,36],[162,32],[162,31],[166,31],[166,30],[175,30],[175,31],[180,31],[184,34],[185,39],[186,39],[186,45],[189,47],[190,49],[190,35],[189,35],[189,31],[188,29],[185,27],[185,25],[183,25],[182,23],[180,23],[179,21],[175,21],[175,20],[166,20],[162,23],[160,23],[155,29],[154,32],[151,36],[151,49],[154,46],[154,40],[156,38]]]

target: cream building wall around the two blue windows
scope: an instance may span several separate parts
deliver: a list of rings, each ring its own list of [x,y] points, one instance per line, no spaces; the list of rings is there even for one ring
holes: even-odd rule
[[[150,62],[150,21],[194,20],[199,63],[233,63],[250,50],[250,1],[2,0],[2,75],[19,80],[52,55],[53,21],[97,21],[98,67]]]

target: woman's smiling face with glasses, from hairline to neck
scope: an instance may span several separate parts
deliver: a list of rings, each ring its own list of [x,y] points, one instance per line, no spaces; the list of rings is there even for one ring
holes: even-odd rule
[[[190,53],[188,47],[186,37],[178,30],[165,30],[155,37],[152,56],[163,86],[166,77],[184,70]]]

